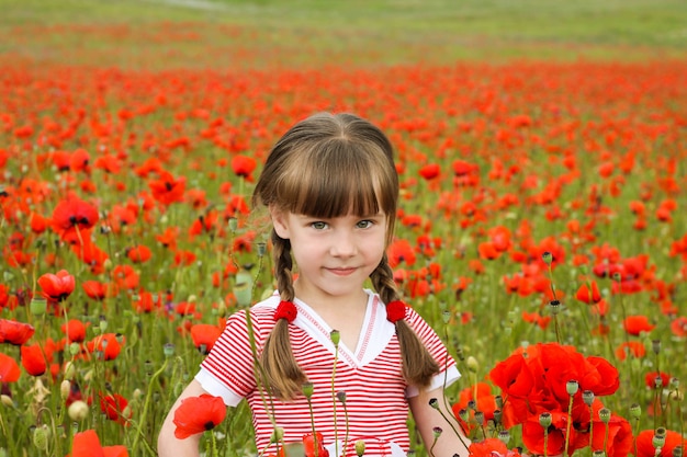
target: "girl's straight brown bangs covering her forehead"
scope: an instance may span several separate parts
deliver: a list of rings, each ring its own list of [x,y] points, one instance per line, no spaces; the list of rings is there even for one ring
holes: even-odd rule
[[[383,153],[351,150],[349,142],[335,138],[308,150],[296,161],[290,167],[290,178],[280,186],[279,199],[288,202],[285,209],[291,213],[331,218],[383,212],[393,217],[397,176],[388,173]]]

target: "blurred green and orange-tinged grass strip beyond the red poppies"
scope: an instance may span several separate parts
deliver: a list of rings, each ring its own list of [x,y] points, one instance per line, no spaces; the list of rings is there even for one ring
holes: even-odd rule
[[[86,48],[92,59],[79,53],[74,64],[132,68],[226,68],[215,53],[237,47],[250,56],[247,67],[675,59],[687,48],[687,2],[679,0],[0,0],[0,8],[2,54],[72,62],[72,50]],[[161,33],[194,38],[149,39],[160,24]],[[126,35],[108,35],[113,26]]]

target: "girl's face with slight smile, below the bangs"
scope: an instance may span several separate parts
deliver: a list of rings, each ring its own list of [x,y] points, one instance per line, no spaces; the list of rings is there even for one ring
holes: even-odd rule
[[[357,299],[386,248],[386,215],[314,218],[271,210],[274,230],[291,241],[296,295],[308,305]]]

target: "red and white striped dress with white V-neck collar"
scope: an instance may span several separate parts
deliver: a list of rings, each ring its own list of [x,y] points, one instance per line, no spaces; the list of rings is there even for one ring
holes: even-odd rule
[[[333,369],[336,350],[329,336],[333,329],[297,299],[299,315],[289,325],[295,358],[314,385],[311,401],[315,429],[323,434],[331,457],[336,456],[335,448],[339,456],[344,454],[347,422],[347,456],[356,455],[352,445],[358,439],[365,442],[365,456],[405,456],[410,446],[406,398],[417,395],[417,389],[403,378],[395,325],[386,320],[384,304],[376,294],[368,293],[370,298],[358,347],[352,351],[339,343],[336,374]],[[258,353],[274,325],[273,313],[279,301],[279,296],[273,295],[250,309]],[[427,322],[412,309],[406,311],[406,321],[439,365],[447,367],[435,377],[430,388],[458,379],[460,374],[454,361]],[[270,414],[283,429],[285,443],[301,442],[303,435],[313,431],[306,398],[300,396],[291,402],[273,399],[272,407],[266,409],[260,391],[256,389],[254,359],[246,315],[237,312],[227,320],[222,336],[202,362],[195,378],[209,393],[222,397],[227,405],[235,407],[243,399],[248,401],[258,450],[270,443],[273,432]],[[346,411],[334,397],[339,391],[346,392]]]

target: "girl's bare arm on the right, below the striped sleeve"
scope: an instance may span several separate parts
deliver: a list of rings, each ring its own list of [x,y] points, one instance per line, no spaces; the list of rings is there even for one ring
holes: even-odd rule
[[[429,400],[432,398],[438,400],[436,404],[440,411],[429,404]],[[466,446],[470,446],[470,439],[465,437],[460,424],[453,416],[453,412],[450,409],[447,411],[442,387],[429,391],[420,390],[417,397],[408,399],[408,403],[415,425],[420,432],[423,443],[425,443],[430,456],[452,457],[459,455],[460,457],[468,457]],[[436,443],[435,427],[440,427],[442,431]],[[457,435],[455,431],[460,436]]]

